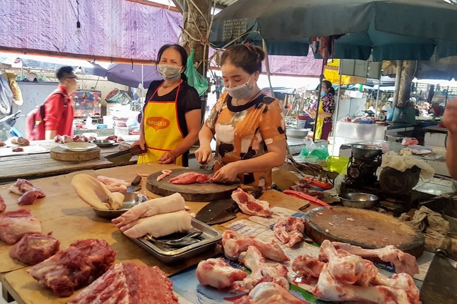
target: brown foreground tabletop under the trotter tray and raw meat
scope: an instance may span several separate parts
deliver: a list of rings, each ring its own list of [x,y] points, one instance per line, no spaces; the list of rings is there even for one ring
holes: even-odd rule
[[[138,264],[159,266],[167,275],[178,273],[191,265],[197,264],[203,259],[215,256],[221,252],[220,246],[200,256],[189,260],[164,264],[145,250],[140,248],[128,237],[124,236],[114,225],[104,218],[95,215],[91,208],[82,202],[75,194],[71,180],[76,174],[89,174],[91,176],[105,175],[114,178],[131,181],[136,173],[152,174],[165,168],[177,168],[175,165],[159,165],[146,163],[140,165],[127,165],[122,167],[104,168],[99,170],[84,170],[54,177],[33,180],[33,184],[41,187],[46,192],[46,197],[39,199],[32,205],[19,206],[16,203],[17,195],[8,191],[9,184],[0,186],[0,195],[5,199],[7,211],[17,210],[20,207],[28,208],[32,214],[43,223],[43,233],[52,231],[52,235],[61,242],[61,248],[66,248],[70,243],[85,239],[99,238],[106,240],[116,250],[116,263],[132,261]],[[142,180],[142,191],[146,191],[148,197],[157,197],[146,190],[146,179]],[[276,191],[266,191],[262,199],[271,203],[271,206],[279,206],[298,211],[307,201],[287,196]],[[187,202],[191,212],[198,212],[207,203]],[[220,231],[225,230],[225,225],[249,216],[242,213],[237,218],[223,225],[215,225]],[[71,297],[58,298],[56,294],[42,286],[26,273],[27,265],[17,262],[9,257],[10,246],[0,242],[0,281],[3,284],[4,295],[11,295],[18,303],[66,303],[78,294],[76,291]]]

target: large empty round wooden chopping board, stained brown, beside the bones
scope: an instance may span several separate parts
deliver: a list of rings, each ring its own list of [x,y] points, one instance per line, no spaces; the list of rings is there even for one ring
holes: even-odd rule
[[[319,244],[328,239],[366,249],[394,245],[415,257],[424,251],[424,235],[412,225],[359,208],[314,208],[305,215],[305,233]]]

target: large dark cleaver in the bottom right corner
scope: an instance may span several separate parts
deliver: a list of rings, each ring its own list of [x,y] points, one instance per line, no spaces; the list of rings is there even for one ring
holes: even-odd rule
[[[451,246],[451,239],[444,237],[436,250],[420,289],[423,304],[454,304],[457,299],[457,269],[447,258]]]

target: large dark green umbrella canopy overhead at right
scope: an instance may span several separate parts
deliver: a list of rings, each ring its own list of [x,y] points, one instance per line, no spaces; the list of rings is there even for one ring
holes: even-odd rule
[[[215,16],[210,40],[265,39],[269,54],[307,55],[310,37],[343,35],[335,58],[429,60],[457,55],[455,29],[457,6],[444,0],[238,0]]]

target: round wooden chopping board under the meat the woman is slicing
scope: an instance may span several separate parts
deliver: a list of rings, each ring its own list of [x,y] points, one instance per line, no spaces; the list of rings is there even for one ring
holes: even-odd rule
[[[215,183],[194,183],[189,185],[177,185],[170,183],[170,179],[177,177],[180,174],[186,172],[197,172],[206,175],[213,174],[212,170],[203,169],[173,169],[173,172],[162,179],[157,181],[157,177],[162,172],[156,172],[148,176],[146,182],[146,188],[155,194],[168,196],[173,193],[180,193],[186,201],[190,202],[210,202],[218,199],[230,198],[232,192],[239,187],[239,183],[236,184],[215,184]]]

